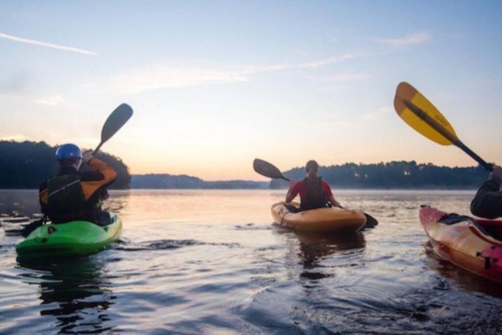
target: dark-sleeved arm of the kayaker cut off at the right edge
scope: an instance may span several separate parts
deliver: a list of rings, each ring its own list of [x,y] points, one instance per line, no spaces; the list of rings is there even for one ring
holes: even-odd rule
[[[502,216],[502,168],[494,166],[490,178],[481,185],[471,202],[472,214],[489,219]]]

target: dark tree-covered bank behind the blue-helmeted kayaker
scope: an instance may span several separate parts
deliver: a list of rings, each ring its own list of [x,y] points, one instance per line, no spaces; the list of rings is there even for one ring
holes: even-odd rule
[[[55,153],[56,147],[45,142],[0,141],[0,188],[38,188],[58,171]],[[131,174],[120,158],[103,152],[96,158],[117,171],[117,179],[110,188],[129,188]]]

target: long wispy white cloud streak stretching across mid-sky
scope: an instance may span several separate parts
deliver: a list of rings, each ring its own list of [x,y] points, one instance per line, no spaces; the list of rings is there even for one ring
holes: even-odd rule
[[[266,72],[314,69],[354,57],[351,54],[333,56],[302,63],[278,63],[253,65],[241,68],[218,68],[191,66],[186,64],[153,64],[116,76],[98,78],[86,83],[85,89],[94,93],[135,94],[150,90],[188,87],[202,84],[244,82],[255,75]]]

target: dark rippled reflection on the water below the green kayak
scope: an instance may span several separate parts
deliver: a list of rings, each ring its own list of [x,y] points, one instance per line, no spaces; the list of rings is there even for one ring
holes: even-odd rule
[[[54,316],[57,332],[90,333],[112,328],[105,326],[110,320],[107,309],[114,299],[111,283],[106,279],[106,261],[95,257],[37,263],[20,261],[19,267],[30,270],[22,271],[21,277],[38,282],[40,315]]]

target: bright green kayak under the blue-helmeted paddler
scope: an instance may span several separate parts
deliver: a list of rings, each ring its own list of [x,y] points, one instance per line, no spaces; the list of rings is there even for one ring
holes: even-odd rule
[[[111,214],[111,224],[100,227],[89,221],[44,225],[16,246],[20,257],[83,256],[94,254],[115,242],[122,233],[122,221]]]

